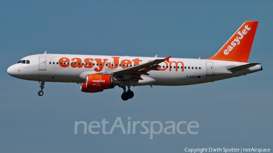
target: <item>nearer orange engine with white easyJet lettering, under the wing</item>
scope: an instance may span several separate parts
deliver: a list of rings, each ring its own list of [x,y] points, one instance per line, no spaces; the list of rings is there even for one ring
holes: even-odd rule
[[[120,81],[115,80],[113,76],[102,74],[87,74],[86,75],[86,89],[103,90],[114,88],[120,85]]]

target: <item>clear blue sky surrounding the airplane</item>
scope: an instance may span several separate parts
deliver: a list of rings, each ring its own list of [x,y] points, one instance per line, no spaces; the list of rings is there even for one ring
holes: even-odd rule
[[[1,152],[184,152],[184,148],[272,147],[271,1],[0,1]],[[259,21],[248,62],[263,71],[191,86],[82,93],[76,83],[39,83],[8,75],[32,54],[177,58],[213,56],[244,21]],[[83,134],[74,122],[197,121],[198,134]],[[163,124],[164,125],[164,124]],[[165,127],[165,125],[164,125]],[[155,129],[158,127],[155,127]],[[272,149],[272,148],[271,148]]]

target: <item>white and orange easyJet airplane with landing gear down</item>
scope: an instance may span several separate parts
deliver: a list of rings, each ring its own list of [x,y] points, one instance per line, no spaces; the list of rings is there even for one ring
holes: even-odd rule
[[[85,93],[121,87],[122,100],[133,98],[131,86],[184,86],[238,77],[262,69],[248,63],[258,21],[246,21],[212,57],[206,59],[36,54],[22,58],[7,69],[15,78],[80,84]],[[127,91],[126,91],[127,87]]]

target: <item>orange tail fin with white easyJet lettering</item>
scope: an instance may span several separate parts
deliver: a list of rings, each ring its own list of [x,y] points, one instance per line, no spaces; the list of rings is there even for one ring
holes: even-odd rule
[[[209,60],[248,62],[258,21],[246,21]]]

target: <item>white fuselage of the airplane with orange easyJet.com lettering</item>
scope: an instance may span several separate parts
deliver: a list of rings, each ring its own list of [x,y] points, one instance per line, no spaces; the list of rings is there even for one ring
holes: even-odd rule
[[[66,60],[63,60],[63,57],[65,57]],[[114,70],[133,67],[134,65],[156,59],[163,58],[37,54],[21,59],[29,60],[29,64],[17,63],[9,67],[7,71],[11,76],[24,80],[85,83],[86,74],[112,72]],[[60,65],[60,61],[62,62],[62,66],[65,67]],[[148,72],[150,75],[142,75],[141,77],[143,80],[131,82],[131,85],[183,86],[238,77],[262,69],[260,65],[255,65],[254,67],[235,72],[231,72],[227,69],[244,64],[247,63],[222,60],[170,58],[169,62],[164,61],[158,64],[160,65],[158,68],[159,71],[151,70]],[[123,77],[126,77],[126,75]],[[119,80],[118,77],[117,80]]]

